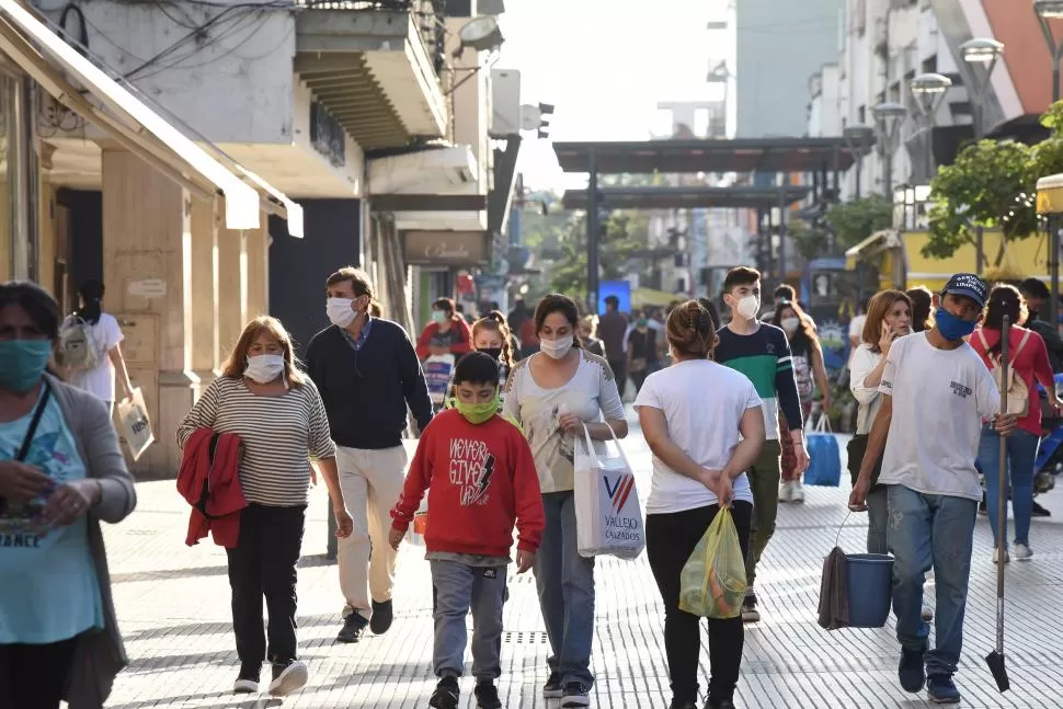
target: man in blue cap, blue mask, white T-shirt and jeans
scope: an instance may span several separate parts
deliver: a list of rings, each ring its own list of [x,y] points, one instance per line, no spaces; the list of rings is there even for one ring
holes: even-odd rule
[[[982,421],[992,421],[1002,436],[1016,425],[1014,415],[1001,413],[992,375],[964,342],[982,318],[986,294],[976,275],[952,276],[934,327],[893,342],[879,387],[885,396],[849,496],[850,508],[866,510],[871,472],[884,446],[879,482],[889,487],[898,675],[906,691],[926,685],[935,704],[960,701],[952,675],[963,645],[974,521],[982,500],[974,467]],[[934,650],[927,642],[929,625],[921,618],[923,582],[930,569],[937,598]]]

